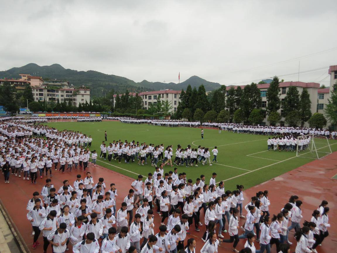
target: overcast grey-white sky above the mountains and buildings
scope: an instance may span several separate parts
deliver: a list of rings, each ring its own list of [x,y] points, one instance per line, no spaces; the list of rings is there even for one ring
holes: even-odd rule
[[[241,85],[297,73],[300,60],[300,72],[326,67],[300,81],[329,85],[327,66],[337,64],[336,0],[0,4],[0,70],[59,63],[136,82],[178,82],[180,72],[181,81]]]

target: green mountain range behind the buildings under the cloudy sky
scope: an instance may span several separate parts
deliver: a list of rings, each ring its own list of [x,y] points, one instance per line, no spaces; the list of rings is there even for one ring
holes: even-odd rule
[[[211,91],[221,87],[219,83],[209,82],[197,76],[192,76],[186,81],[177,83],[162,83],[162,82],[149,82],[143,80],[142,82],[134,82],[128,78],[116,75],[107,75],[97,71],[77,71],[69,68],[64,68],[60,64],[52,64],[50,66],[39,66],[35,63],[29,63],[22,67],[13,67],[6,71],[0,71],[0,78],[18,79],[19,74],[30,74],[32,76],[40,76],[42,79],[49,78],[50,80],[66,80],[69,85],[73,84],[75,87],[82,85],[91,89],[91,95],[104,96],[112,89],[115,93],[124,93],[126,89],[134,92],[160,90],[160,89],[173,89],[173,90],[186,90],[190,84],[198,88],[201,84],[205,86],[206,91]]]

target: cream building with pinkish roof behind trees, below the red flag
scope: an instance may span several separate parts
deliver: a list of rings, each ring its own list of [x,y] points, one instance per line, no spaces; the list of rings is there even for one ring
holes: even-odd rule
[[[180,93],[181,90],[157,90],[157,91],[146,91],[146,92],[140,92],[138,95],[142,97],[143,100],[143,109],[147,110],[151,104],[156,105],[157,100],[160,99],[161,101],[165,102],[168,101],[172,105],[172,110],[170,112],[176,112],[177,107],[179,105],[180,100]],[[121,96],[122,94],[119,94]],[[136,93],[129,93],[130,96],[135,96]],[[116,97],[117,95],[114,95],[114,106],[116,104]]]

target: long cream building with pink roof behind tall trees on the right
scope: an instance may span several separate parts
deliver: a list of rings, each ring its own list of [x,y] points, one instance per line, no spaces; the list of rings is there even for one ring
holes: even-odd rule
[[[261,98],[262,98],[262,109],[267,109],[267,89],[269,88],[269,83],[264,84],[258,84],[257,87],[260,89],[261,92]],[[280,100],[284,101],[284,97],[289,89],[290,86],[295,86],[299,93],[301,94],[303,89],[307,89],[310,95],[311,100],[311,113],[314,114],[317,111],[317,90],[319,89],[319,83],[304,83],[304,82],[283,82],[279,84],[280,87]],[[238,86],[227,86],[226,90],[229,90],[231,87],[234,87],[235,89]],[[242,89],[244,89],[245,85],[240,86]],[[278,111],[280,115],[282,116],[281,119],[281,125],[285,125],[284,123],[284,117],[283,117],[283,110],[282,108]],[[269,121],[267,120],[267,113],[264,113],[264,120],[263,124],[269,125]],[[283,123],[282,123],[283,122]]]

